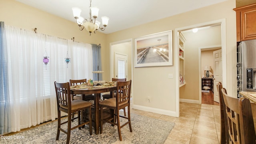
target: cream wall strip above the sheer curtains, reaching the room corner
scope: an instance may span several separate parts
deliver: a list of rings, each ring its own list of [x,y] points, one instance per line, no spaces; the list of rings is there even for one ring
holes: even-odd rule
[[[74,22],[64,20],[58,16],[54,16],[42,10],[38,10],[31,6],[27,6],[15,0],[0,0],[0,21],[6,25],[15,26],[25,30],[34,31],[37,28],[38,33],[56,36],[64,39],[75,37],[75,41],[83,43],[101,44],[102,59],[106,58],[106,34],[97,32],[90,36],[86,30],[80,31]],[[103,79],[108,76],[108,67],[102,65],[102,69],[106,69],[103,73]]]

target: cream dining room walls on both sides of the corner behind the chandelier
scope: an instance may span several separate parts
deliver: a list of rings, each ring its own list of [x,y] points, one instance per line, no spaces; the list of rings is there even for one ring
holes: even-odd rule
[[[175,53],[174,45],[176,41],[174,41],[174,30],[176,28],[224,18],[226,19],[226,53],[228,53],[227,90],[228,93],[236,94],[236,14],[232,10],[236,7],[235,0],[228,0],[220,4],[178,14],[112,34],[106,35],[97,32],[97,34],[92,34],[92,36],[89,36],[85,30],[80,31],[75,22],[53,16],[15,0],[0,0],[0,3],[0,18],[1,21],[6,22],[6,25],[26,30],[38,28],[38,33],[64,39],[75,37],[75,41],[84,43],[100,43],[102,45],[102,69],[105,71],[103,79],[110,79],[110,43],[173,30],[173,53]],[[178,82],[178,79],[175,77],[175,69],[178,68],[175,65],[176,57],[176,55],[173,55],[173,66],[133,68],[134,105],[138,108],[146,108],[148,111],[158,110],[168,114],[175,113],[176,82]],[[173,79],[168,78],[169,73],[174,75]],[[147,97],[151,97],[150,103],[147,102]]]

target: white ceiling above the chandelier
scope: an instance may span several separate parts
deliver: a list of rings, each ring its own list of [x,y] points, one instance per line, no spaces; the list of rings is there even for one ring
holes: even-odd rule
[[[89,18],[90,0],[16,1],[74,23],[72,7],[80,8],[81,16]],[[102,31],[109,34],[224,1],[226,0],[92,0],[92,6],[97,6],[100,9],[98,21],[101,22],[101,16],[110,18],[106,30]]]

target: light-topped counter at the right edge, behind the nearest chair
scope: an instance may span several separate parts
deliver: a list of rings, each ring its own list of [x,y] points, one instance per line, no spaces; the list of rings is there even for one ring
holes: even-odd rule
[[[252,107],[252,116],[254,121],[254,129],[256,133],[256,92],[240,91],[239,94],[250,100]]]

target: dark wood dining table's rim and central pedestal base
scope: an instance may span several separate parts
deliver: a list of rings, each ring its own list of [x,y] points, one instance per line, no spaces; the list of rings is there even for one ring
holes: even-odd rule
[[[87,89],[71,89],[71,94],[94,94],[94,108],[92,110],[92,126],[94,126],[95,134],[99,134],[100,126],[100,93],[110,92],[113,95],[113,91],[116,91],[116,87],[90,87]],[[84,114],[86,116],[86,114]]]

